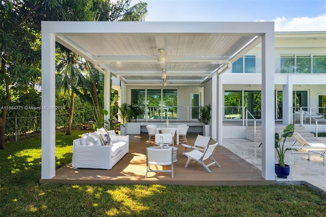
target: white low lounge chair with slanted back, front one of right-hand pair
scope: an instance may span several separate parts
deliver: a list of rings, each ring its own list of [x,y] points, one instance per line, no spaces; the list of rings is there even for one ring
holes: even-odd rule
[[[184,168],[188,167],[188,164],[191,160],[195,160],[197,162],[200,162],[200,164],[207,170],[208,173],[210,173],[211,171],[208,169],[209,166],[212,166],[214,164],[216,164],[216,166],[221,167],[218,162],[213,158],[213,154],[214,151],[216,149],[216,146],[218,146],[218,143],[215,143],[213,145],[208,145],[204,152],[198,151],[198,150],[192,150],[189,152],[185,152],[184,155],[186,155],[188,157],[187,162],[185,163]],[[210,164],[205,164],[204,160],[206,159],[211,159],[213,162],[211,162]]]

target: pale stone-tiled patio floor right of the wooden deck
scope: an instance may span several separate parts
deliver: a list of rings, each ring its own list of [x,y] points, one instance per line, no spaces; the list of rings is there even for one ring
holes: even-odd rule
[[[251,142],[249,140],[228,139],[223,140],[223,146],[250,162],[261,170],[261,147],[260,142]],[[293,142],[286,142],[285,147],[290,147]],[[326,165],[322,163],[322,157],[318,154],[312,154],[311,160],[308,159],[308,151],[287,151],[285,156],[286,164],[290,165],[290,175],[287,179],[278,178],[279,183],[295,183],[305,181],[321,189],[326,194]],[[277,162],[277,156],[275,159]]]

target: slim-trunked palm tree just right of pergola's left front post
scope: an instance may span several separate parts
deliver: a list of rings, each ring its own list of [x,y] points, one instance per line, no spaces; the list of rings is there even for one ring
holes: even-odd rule
[[[71,87],[76,86],[78,82],[78,73],[84,69],[84,62],[76,53],[70,50],[61,52],[59,58],[60,62],[57,65],[56,86],[59,90],[63,89],[65,93],[67,91],[70,92],[70,111],[66,132],[66,135],[70,135],[75,99],[75,92]]]

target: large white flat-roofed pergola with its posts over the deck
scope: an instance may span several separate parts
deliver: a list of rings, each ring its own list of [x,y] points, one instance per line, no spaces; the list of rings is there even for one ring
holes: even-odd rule
[[[261,43],[262,177],[275,179],[274,22],[42,21],[41,179],[56,175],[56,42],[89,60],[104,74],[107,111],[110,75],[122,84],[168,86],[202,86],[211,79],[212,138],[220,144],[222,73]]]

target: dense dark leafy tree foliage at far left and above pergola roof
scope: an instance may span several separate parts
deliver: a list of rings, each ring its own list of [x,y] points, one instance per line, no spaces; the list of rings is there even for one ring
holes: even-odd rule
[[[34,87],[41,77],[40,30],[42,20],[144,20],[147,4],[130,7],[131,0],[7,0],[0,8],[0,148],[5,148],[10,89]]]

